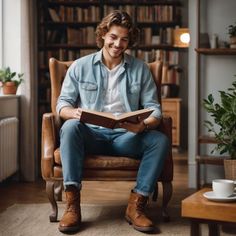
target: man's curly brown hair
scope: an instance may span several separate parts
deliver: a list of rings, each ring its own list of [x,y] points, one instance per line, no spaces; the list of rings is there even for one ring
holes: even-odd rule
[[[99,48],[102,48],[104,45],[104,40],[102,37],[113,25],[125,27],[129,30],[128,48],[132,48],[138,43],[139,30],[134,26],[129,14],[124,11],[115,10],[104,17],[96,28],[96,42]]]

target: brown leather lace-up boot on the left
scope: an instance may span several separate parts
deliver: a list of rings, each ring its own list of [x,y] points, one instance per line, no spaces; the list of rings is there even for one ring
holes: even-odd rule
[[[75,186],[69,186],[65,194],[66,210],[58,228],[63,233],[77,231],[81,224],[80,190]]]

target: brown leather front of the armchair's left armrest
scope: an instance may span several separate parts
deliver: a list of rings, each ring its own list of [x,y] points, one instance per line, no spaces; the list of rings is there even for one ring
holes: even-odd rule
[[[53,113],[45,113],[42,118],[42,143],[41,143],[41,171],[46,180],[53,176],[54,151],[56,149],[55,116]]]

